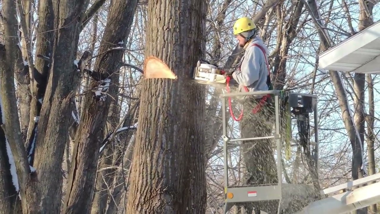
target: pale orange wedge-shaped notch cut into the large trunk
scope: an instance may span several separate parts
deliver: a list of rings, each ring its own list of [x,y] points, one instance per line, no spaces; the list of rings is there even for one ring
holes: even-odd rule
[[[144,61],[145,78],[169,78],[177,79],[177,76],[169,69],[168,65],[154,56],[149,56]]]

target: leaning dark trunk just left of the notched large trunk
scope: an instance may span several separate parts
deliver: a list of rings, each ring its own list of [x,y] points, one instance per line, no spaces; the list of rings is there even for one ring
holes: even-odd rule
[[[137,0],[113,0],[108,15],[105,34],[100,45],[95,69],[101,80],[110,81],[110,91],[119,80],[123,49],[109,50],[126,43],[135,14]],[[104,84],[104,83],[103,83]],[[91,88],[98,88],[99,82],[92,81]],[[95,89],[97,90],[97,89]],[[105,91],[104,93],[107,93]],[[90,213],[95,177],[97,171],[98,152],[103,140],[103,128],[109,110],[111,97],[107,94],[89,93],[82,102],[86,109],[82,112],[78,131],[75,136],[73,159],[68,177],[65,197],[65,213]],[[87,173],[80,173],[86,171]]]

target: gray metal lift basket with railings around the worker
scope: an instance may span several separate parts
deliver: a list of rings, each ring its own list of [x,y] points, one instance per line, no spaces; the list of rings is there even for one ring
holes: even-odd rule
[[[275,134],[273,136],[255,136],[250,138],[241,139],[231,139],[227,136],[227,121],[226,121],[226,98],[237,97],[237,96],[250,96],[259,94],[272,94],[274,95],[274,115],[275,115]],[[315,188],[313,185],[308,184],[286,184],[283,183],[282,176],[282,141],[281,137],[282,131],[281,123],[286,121],[281,121],[280,118],[280,99],[283,99],[283,93],[278,90],[272,91],[253,91],[253,92],[243,92],[243,93],[227,93],[222,94],[222,119],[223,119],[223,159],[224,159],[224,181],[225,181],[225,208],[224,213],[228,211],[234,205],[242,205],[246,203],[252,203],[257,201],[270,201],[279,200],[279,206],[277,208],[277,214],[282,213],[282,209],[287,208],[292,200],[309,201],[310,198],[315,196]],[[300,93],[287,93],[288,103],[293,110],[298,109],[298,111],[308,113],[314,113],[314,138],[315,143],[312,145],[314,147],[314,166],[315,171],[318,172],[318,115],[317,115],[317,96],[311,94],[300,94]],[[300,104],[302,105],[300,107]],[[291,113],[290,110],[288,109]],[[287,124],[291,126],[290,121]],[[277,176],[278,183],[275,184],[263,184],[263,185],[250,185],[250,186],[231,186],[229,185],[228,178],[228,147],[233,144],[234,146],[239,146],[234,142],[249,141],[249,140],[261,140],[261,139],[274,139],[277,145]],[[272,213],[269,213],[272,214]]]

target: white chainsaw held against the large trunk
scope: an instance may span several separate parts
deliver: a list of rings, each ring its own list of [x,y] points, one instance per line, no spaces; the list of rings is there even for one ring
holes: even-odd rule
[[[201,84],[213,85],[213,84],[225,84],[226,76],[225,72],[232,72],[231,68],[221,68],[217,65],[213,65],[206,60],[199,60],[193,72],[193,79]]]

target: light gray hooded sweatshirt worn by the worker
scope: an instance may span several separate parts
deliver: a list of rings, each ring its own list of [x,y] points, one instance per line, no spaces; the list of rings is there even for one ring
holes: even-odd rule
[[[252,44],[258,44],[265,50],[265,56],[263,51],[257,46]],[[266,66],[266,58],[268,56],[268,49],[264,45],[263,40],[256,36],[249,43],[244,46],[245,53],[244,59],[241,62],[240,71],[235,71],[232,74],[234,80],[239,84],[239,91],[242,90],[242,86],[247,86],[249,91],[266,91],[268,85],[266,80],[268,77],[268,68]],[[255,95],[255,98],[261,98],[263,95]]]

